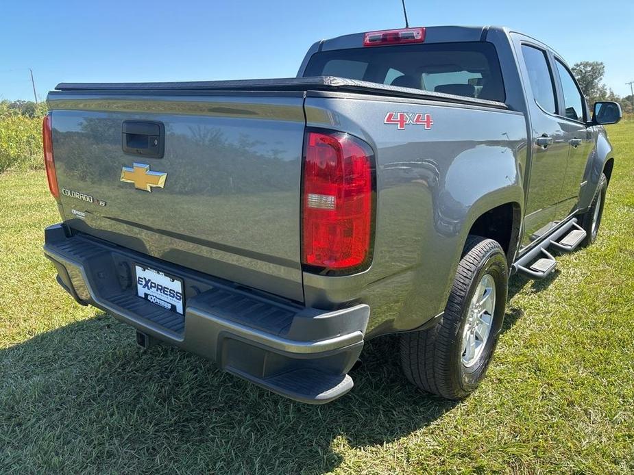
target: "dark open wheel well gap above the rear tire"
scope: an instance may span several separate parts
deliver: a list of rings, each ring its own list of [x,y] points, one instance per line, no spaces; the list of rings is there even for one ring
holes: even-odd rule
[[[472,225],[470,234],[497,241],[508,259],[513,259],[520,237],[520,205],[504,203],[482,214]]]

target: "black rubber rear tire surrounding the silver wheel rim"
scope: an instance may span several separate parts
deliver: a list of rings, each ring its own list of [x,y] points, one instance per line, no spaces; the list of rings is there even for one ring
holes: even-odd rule
[[[489,337],[480,356],[467,368],[463,363],[463,329],[476,287],[485,274],[493,277],[496,303]],[[470,235],[441,320],[430,329],[400,336],[401,366],[409,381],[443,398],[458,400],[469,396],[485,376],[498,343],[508,286],[507,257],[500,244]]]

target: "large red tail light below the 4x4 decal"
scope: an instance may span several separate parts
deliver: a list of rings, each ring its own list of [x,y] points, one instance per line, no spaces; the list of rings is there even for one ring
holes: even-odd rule
[[[302,262],[327,270],[365,266],[374,217],[374,154],[347,133],[308,131],[304,142]]]

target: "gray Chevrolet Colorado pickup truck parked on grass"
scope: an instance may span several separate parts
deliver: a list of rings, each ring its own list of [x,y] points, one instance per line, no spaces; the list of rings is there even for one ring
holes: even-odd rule
[[[319,41],[291,79],[59,84],[48,104],[64,290],[142,346],[313,404],[388,333],[412,383],[470,394],[509,276],[596,239],[621,116],[498,27]]]

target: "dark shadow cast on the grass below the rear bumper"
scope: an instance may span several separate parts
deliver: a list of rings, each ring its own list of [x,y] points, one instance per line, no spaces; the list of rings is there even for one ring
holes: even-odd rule
[[[393,441],[456,405],[406,381],[394,337],[369,342],[351,393],[319,407],[175,348],[143,351],[133,337],[99,313],[0,350],[0,461],[29,460],[37,471],[316,474],[341,463],[338,447]]]

